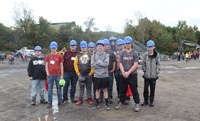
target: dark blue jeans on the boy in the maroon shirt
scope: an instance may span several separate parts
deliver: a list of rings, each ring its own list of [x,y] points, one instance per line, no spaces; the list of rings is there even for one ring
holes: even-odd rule
[[[70,98],[74,99],[76,92],[76,83],[78,81],[78,76],[75,72],[64,72],[65,86],[63,88],[63,100],[68,100],[68,89],[70,89]]]

